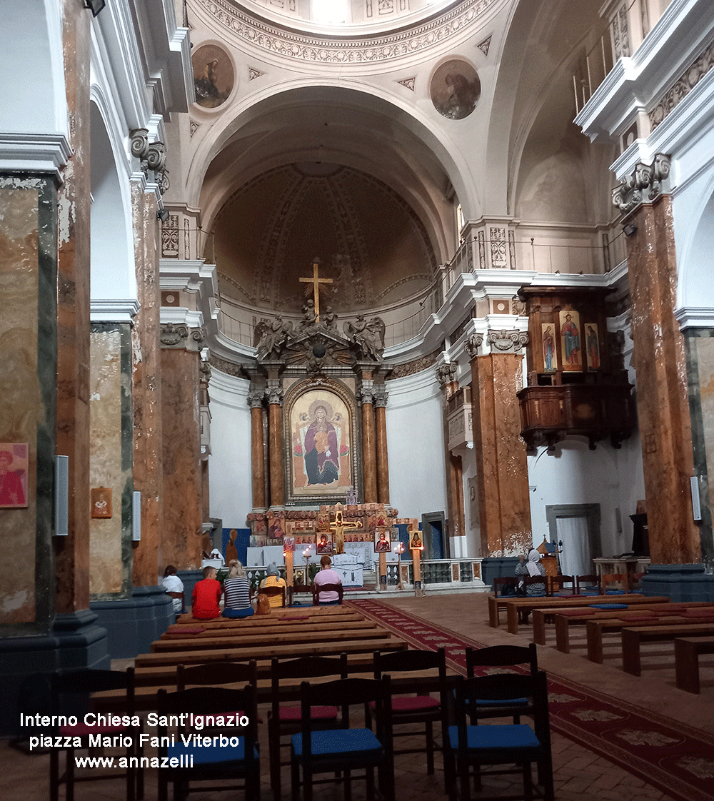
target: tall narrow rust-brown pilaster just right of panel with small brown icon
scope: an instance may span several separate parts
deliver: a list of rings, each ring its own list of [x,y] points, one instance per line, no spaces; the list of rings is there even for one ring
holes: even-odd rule
[[[141,493],[141,541],[134,544],[135,587],[155,586],[163,525],[163,436],[161,421],[161,344],[159,342],[159,260],[155,195],[131,183],[134,259],[139,312],[132,329],[132,406],[134,416],[134,489]],[[162,569],[163,573],[163,569]]]

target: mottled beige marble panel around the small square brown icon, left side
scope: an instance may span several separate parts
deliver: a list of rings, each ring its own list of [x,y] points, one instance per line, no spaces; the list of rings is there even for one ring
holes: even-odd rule
[[[111,489],[112,514],[90,518],[90,593],[107,600],[131,593],[131,330],[91,327],[91,488]]]

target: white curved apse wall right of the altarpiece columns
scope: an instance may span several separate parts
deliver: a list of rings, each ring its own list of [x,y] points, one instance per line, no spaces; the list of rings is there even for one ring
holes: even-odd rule
[[[399,517],[446,513],[442,393],[434,369],[387,381],[389,502]]]

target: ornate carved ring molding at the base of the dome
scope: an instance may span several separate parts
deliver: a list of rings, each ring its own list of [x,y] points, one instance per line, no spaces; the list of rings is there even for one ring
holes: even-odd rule
[[[228,0],[196,0],[204,12],[244,42],[292,61],[320,64],[374,64],[441,46],[480,22],[499,0],[465,0],[426,22],[375,36],[331,37],[304,34],[254,17]]]

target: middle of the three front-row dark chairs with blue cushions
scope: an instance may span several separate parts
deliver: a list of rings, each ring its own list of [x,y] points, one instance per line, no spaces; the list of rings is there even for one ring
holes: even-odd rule
[[[366,727],[350,728],[350,706],[376,704],[377,734]],[[341,708],[341,727],[333,731],[315,731],[310,708],[317,703]],[[366,795],[374,798],[374,769],[378,769],[381,798],[394,801],[394,755],[392,746],[392,690],[389,676],[373,678],[341,678],[334,682],[301,684],[302,727],[292,735],[290,764],[292,801],[299,801],[300,787],[304,801],[313,801],[313,784],[317,773],[341,771],[345,783],[345,799],[351,798],[352,772],[365,771]],[[302,774],[302,781],[301,781]],[[333,781],[323,779],[322,781]]]

